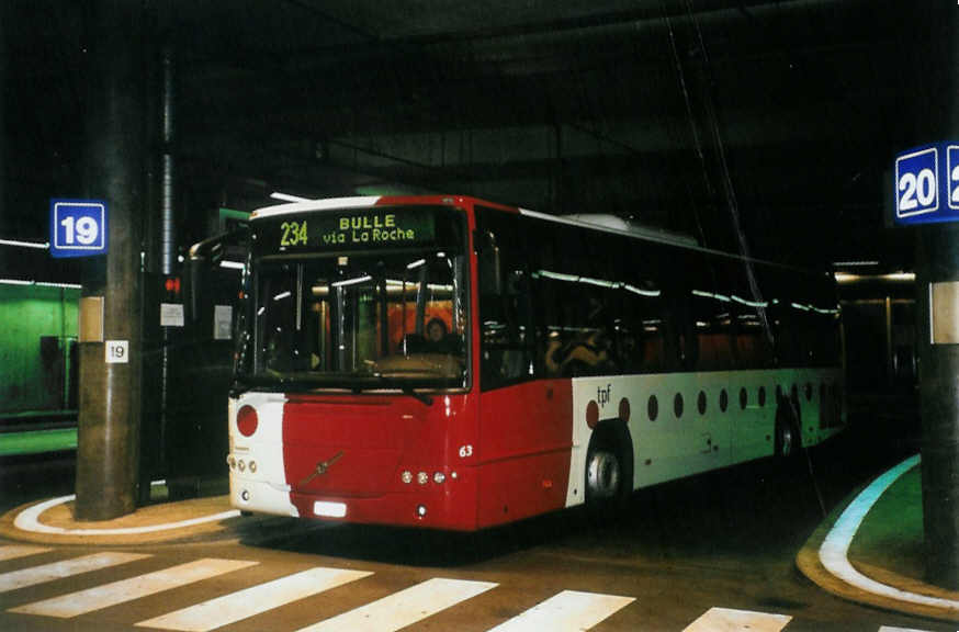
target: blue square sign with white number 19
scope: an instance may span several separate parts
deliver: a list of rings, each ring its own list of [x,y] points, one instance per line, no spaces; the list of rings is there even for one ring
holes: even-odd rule
[[[50,200],[52,257],[90,257],[105,252],[105,202]]]

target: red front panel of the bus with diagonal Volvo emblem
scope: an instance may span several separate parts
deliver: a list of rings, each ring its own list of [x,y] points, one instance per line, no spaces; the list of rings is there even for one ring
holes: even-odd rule
[[[475,529],[475,458],[461,451],[476,444],[472,408],[469,394],[433,395],[431,405],[395,394],[289,395],[291,501],[303,517],[316,517],[316,501],[341,503],[350,522]]]

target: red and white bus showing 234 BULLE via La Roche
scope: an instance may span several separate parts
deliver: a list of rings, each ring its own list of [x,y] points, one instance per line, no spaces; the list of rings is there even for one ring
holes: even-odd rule
[[[844,424],[826,274],[459,196],[269,206],[250,232],[245,511],[476,530]]]

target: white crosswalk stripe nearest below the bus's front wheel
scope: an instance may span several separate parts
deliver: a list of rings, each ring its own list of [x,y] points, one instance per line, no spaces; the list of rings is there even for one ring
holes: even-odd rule
[[[633,597],[563,590],[489,632],[577,632],[625,608]]]

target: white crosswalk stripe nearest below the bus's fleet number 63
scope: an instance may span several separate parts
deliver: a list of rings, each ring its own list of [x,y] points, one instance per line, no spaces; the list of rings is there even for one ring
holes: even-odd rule
[[[428,579],[298,632],[394,632],[496,586],[488,582]]]

